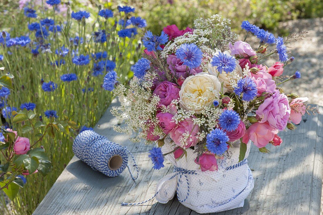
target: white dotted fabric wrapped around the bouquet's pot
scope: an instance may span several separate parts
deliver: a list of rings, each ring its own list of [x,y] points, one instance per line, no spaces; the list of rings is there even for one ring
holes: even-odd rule
[[[170,138],[165,139],[163,153],[173,150],[174,146],[169,142]],[[254,178],[247,160],[238,162],[239,144],[240,142],[234,143],[235,147],[225,153],[224,159],[218,160],[217,172],[202,172],[194,162],[196,154],[192,149],[187,150],[187,161],[176,161],[172,154],[167,155],[166,158],[175,168],[173,173],[163,177],[157,184],[156,199],[166,203],[177,193],[177,198],[184,206],[198,213],[214,213],[243,207],[245,198],[254,188]],[[251,142],[247,144],[245,158],[249,155],[250,145]]]

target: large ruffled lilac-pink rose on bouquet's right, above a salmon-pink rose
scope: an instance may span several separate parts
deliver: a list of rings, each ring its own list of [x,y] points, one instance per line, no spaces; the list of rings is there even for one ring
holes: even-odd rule
[[[261,119],[260,123],[268,122],[273,129],[283,131],[290,114],[287,96],[276,90],[271,97],[266,98],[264,103],[259,106],[256,114]]]

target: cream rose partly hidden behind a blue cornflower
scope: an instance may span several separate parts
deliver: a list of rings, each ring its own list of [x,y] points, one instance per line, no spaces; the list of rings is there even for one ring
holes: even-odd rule
[[[219,51],[217,51],[215,53],[215,55],[217,55],[219,53]],[[224,51],[224,54],[230,55],[230,53],[228,51]],[[240,77],[242,76],[242,69],[239,65],[239,61],[236,60],[235,61],[235,70],[229,73],[226,72],[222,72],[221,74],[219,74],[219,71],[217,70],[216,66],[211,66],[211,64],[209,63],[209,74],[217,76],[219,81],[221,83],[223,83],[223,87],[225,89],[227,89],[229,92],[233,92],[233,84],[236,83]]]

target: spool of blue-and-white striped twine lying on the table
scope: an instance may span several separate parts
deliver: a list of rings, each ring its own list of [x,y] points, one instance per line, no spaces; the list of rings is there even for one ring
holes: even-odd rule
[[[109,177],[120,175],[128,167],[131,178],[136,180],[139,175],[138,166],[131,152],[119,144],[112,143],[108,138],[95,133],[92,130],[86,130],[78,134],[73,143],[74,154],[92,169],[102,172]],[[128,164],[128,153],[132,157],[136,167],[137,176],[134,177]],[[119,155],[122,158],[121,167],[117,170],[109,168],[109,160],[112,156]]]

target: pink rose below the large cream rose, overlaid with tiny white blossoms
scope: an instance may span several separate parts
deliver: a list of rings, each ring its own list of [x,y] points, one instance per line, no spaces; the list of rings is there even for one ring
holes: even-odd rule
[[[196,118],[193,116],[193,118]],[[192,118],[186,118],[180,121],[170,133],[169,136],[174,143],[182,148],[189,148],[195,146],[200,139],[197,137],[197,133],[200,131],[198,125],[193,124]],[[190,134],[188,138],[184,139],[186,134]]]

